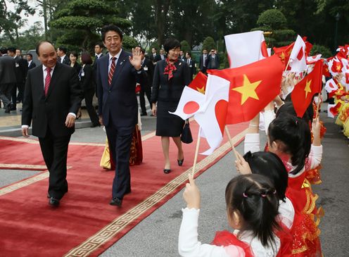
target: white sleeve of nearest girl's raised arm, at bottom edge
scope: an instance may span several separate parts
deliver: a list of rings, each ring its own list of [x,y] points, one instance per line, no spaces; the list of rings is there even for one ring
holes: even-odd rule
[[[239,246],[215,246],[198,242],[198,214],[200,210],[182,209],[183,219],[179,230],[178,251],[183,257],[244,257]]]

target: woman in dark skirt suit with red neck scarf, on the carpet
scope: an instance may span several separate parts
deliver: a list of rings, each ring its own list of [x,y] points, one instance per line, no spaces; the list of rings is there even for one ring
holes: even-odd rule
[[[153,77],[153,91],[151,103],[153,115],[156,115],[156,135],[161,137],[163,154],[165,157],[164,173],[170,173],[170,137],[178,149],[177,163],[182,166],[184,153],[180,135],[184,120],[174,112],[178,106],[182,91],[190,82],[188,65],[180,60],[179,51],[181,44],[177,39],[167,39],[164,44],[167,58],[156,63]]]

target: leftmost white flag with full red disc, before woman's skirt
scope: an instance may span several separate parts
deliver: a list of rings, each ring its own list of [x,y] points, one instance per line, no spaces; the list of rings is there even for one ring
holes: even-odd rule
[[[191,116],[202,108],[204,101],[204,94],[201,94],[190,87],[184,87],[177,109],[172,114],[179,116],[183,120],[191,118]],[[171,112],[169,111],[169,113]]]

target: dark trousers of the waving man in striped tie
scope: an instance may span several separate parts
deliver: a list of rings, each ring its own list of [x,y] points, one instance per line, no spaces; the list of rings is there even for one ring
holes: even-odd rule
[[[131,192],[131,175],[129,173],[129,150],[132,142],[132,127],[115,127],[110,118],[106,127],[109,150],[115,162],[115,177],[113,180],[113,198],[123,199]]]

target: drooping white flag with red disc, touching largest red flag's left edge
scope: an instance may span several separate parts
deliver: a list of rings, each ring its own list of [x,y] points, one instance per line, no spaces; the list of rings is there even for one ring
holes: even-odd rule
[[[201,137],[205,137],[210,149],[201,153],[209,155],[220,146],[223,139],[225,120],[229,101],[228,80],[215,75],[208,75],[206,84],[205,104],[194,118],[201,127]]]

